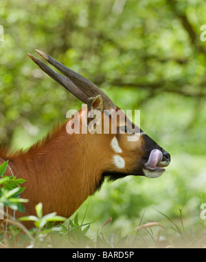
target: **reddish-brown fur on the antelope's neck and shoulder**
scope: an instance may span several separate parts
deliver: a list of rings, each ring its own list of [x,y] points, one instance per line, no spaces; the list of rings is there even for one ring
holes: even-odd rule
[[[115,134],[67,134],[66,124],[54,128],[29,150],[0,152],[3,160],[9,159],[14,176],[26,180],[21,197],[30,202],[24,204],[25,215],[35,214],[34,206],[42,202],[44,214],[56,211],[69,217],[95,192],[104,171],[117,171],[109,147]],[[132,154],[126,158],[133,159]],[[6,174],[10,175],[9,169]]]

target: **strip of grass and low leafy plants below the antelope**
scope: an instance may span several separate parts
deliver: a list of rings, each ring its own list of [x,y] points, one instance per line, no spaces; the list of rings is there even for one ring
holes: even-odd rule
[[[188,226],[179,211],[179,219],[171,219],[161,211],[163,223],[139,220],[133,232],[122,236],[113,230],[111,217],[100,228],[95,237],[89,236],[95,222],[79,220],[78,213],[73,219],[59,217],[56,213],[43,215],[43,206],[36,205],[36,217],[13,219],[8,217],[1,223],[0,248],[206,248],[205,224],[197,222]],[[21,221],[34,221],[28,230]],[[56,224],[56,222],[61,222]],[[6,223],[8,224],[6,226]],[[123,225],[124,226],[124,225]]]

